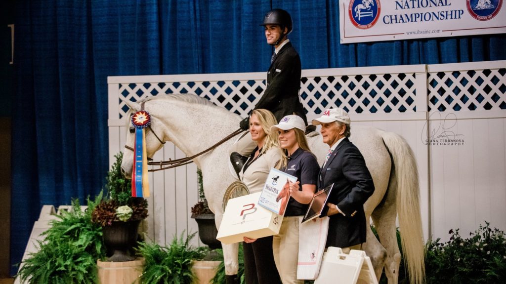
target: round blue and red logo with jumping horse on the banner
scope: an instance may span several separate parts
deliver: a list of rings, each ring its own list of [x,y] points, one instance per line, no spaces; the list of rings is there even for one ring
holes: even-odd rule
[[[348,7],[351,23],[359,29],[368,29],[379,19],[379,0],[352,0]]]

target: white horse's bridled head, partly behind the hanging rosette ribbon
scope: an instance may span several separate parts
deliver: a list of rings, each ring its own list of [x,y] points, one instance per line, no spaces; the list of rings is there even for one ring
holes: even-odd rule
[[[132,125],[132,115],[136,111],[140,111],[143,108],[138,103],[127,101],[126,104],[130,107],[132,112],[128,117],[128,131],[126,133],[126,143],[123,151],[123,160],[121,162],[121,171],[126,178],[132,178],[132,170],[134,165],[134,141],[135,141],[135,130],[136,128]],[[149,110],[146,110],[149,112]],[[156,117],[151,115],[151,125],[144,128],[146,136],[146,153],[148,160],[151,160],[154,153],[163,147],[165,135],[165,126]]]

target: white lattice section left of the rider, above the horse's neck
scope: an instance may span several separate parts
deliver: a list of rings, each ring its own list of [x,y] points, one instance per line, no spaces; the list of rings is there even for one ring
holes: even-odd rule
[[[194,93],[239,115],[252,110],[265,89],[265,80],[219,80],[119,84],[119,118],[129,110],[125,101],[167,93]]]

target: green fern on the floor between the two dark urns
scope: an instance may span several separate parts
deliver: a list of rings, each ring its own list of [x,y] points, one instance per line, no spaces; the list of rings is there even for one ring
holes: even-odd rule
[[[139,243],[138,252],[145,259],[144,270],[139,277],[145,284],[190,284],[195,279],[191,268],[193,260],[202,259],[208,252],[206,247],[193,248],[190,241],[196,232],[184,238],[175,237],[170,246],[155,243]]]

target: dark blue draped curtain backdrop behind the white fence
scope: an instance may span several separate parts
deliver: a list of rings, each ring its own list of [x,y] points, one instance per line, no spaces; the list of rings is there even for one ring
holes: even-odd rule
[[[506,59],[505,34],[340,44],[338,3],[17,1],[11,264],[41,206],[100,192],[107,76],[265,71],[272,48],[259,23],[271,8],[292,15],[304,69]]]

